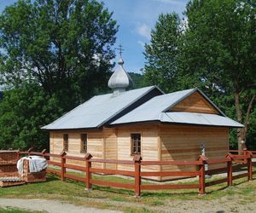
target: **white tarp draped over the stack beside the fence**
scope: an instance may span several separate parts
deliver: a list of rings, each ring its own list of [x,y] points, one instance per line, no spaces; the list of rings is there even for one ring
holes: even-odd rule
[[[23,176],[23,162],[24,160],[28,160],[29,162],[29,170],[30,172],[38,172],[47,168],[47,160],[40,156],[28,156],[20,158],[17,162],[17,169],[19,171],[20,176]]]

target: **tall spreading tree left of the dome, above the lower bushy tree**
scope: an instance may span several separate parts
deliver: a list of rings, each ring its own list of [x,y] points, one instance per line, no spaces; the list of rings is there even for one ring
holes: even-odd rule
[[[0,15],[3,81],[33,80],[68,111],[106,89],[116,32],[95,0],[19,0]]]

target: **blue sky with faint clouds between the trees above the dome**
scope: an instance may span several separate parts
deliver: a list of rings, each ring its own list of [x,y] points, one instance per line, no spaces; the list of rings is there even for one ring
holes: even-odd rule
[[[0,0],[0,11],[16,0]],[[113,19],[117,20],[119,32],[116,47],[122,44],[125,52],[125,70],[140,72],[144,66],[143,45],[150,42],[150,31],[160,13],[173,11],[182,15],[188,0],[102,0]],[[118,60],[118,57],[117,59]]]

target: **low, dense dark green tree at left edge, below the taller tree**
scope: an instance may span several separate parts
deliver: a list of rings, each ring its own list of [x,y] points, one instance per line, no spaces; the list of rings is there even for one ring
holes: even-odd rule
[[[49,136],[40,127],[61,115],[61,104],[35,83],[3,92],[0,101],[0,149],[49,149]]]

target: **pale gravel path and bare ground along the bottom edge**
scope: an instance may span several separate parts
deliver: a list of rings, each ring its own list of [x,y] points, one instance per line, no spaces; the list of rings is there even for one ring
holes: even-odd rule
[[[111,204],[115,206],[131,206],[125,202],[111,201]],[[37,210],[44,212],[54,212],[54,213],[118,213],[117,210],[98,210],[96,208],[90,208],[86,206],[77,206],[73,204],[67,204],[55,200],[45,200],[45,199],[0,199],[1,207],[15,207],[23,210]],[[134,203],[134,207],[137,208],[147,208],[153,212],[204,212],[204,213],[225,213],[225,212],[256,212],[256,202],[250,204],[242,204],[239,199],[233,198],[222,198],[216,200],[170,200],[168,207],[157,206],[149,207],[145,204]]]

